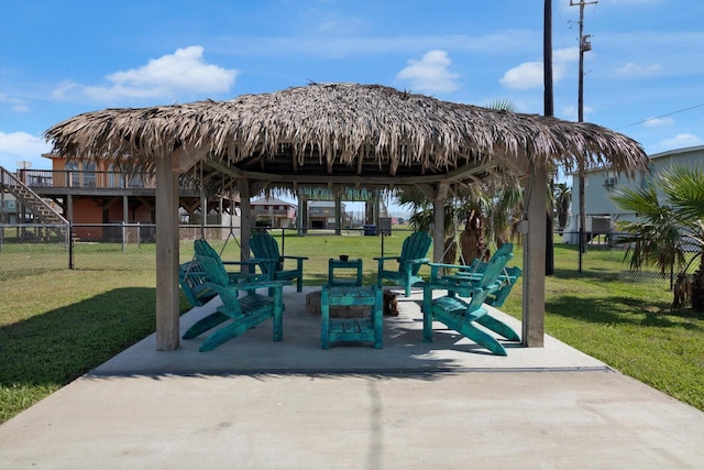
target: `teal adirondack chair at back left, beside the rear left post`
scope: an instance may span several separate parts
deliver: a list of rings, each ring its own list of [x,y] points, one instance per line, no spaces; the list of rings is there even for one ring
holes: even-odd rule
[[[304,287],[304,260],[307,256],[282,256],[278,251],[278,243],[268,233],[256,232],[250,238],[250,248],[254,258],[250,261],[256,262],[262,273],[270,281],[296,281],[296,291],[301,292]],[[296,267],[289,267],[287,260],[296,262]]]

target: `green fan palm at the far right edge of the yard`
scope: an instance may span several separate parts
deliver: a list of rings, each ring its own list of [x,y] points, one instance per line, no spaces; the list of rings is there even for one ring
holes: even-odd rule
[[[662,200],[660,199],[662,198]],[[626,259],[639,269],[651,264],[662,273],[686,273],[698,256],[692,278],[692,309],[704,311],[704,168],[672,166],[638,189],[624,188],[613,196],[618,207],[638,214],[639,220],[622,222],[628,232]],[[688,263],[688,254],[695,255]]]

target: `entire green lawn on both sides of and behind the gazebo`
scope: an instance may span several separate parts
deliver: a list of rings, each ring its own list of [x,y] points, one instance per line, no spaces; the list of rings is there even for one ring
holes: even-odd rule
[[[309,256],[308,285],[324,282],[328,259],[339,254],[362,258],[365,282],[373,282],[381,243],[385,255],[398,254],[404,237],[287,236],[283,244],[288,254]],[[223,259],[239,258],[237,241],[212,244],[218,251],[224,245]],[[63,248],[37,253],[32,247],[6,244],[0,252],[0,270],[14,269],[0,277],[0,423],[155,328],[153,244],[127,251],[78,244],[73,271]],[[573,247],[556,247],[556,260],[573,260],[574,253]],[[185,240],[182,261],[190,256],[193,242]],[[594,249],[583,273],[558,269],[549,276],[546,332],[704,411],[704,314],[671,313],[667,283],[623,281],[622,258],[617,250]],[[521,264],[520,247],[514,261]],[[519,282],[503,308],[517,318],[520,293]]]

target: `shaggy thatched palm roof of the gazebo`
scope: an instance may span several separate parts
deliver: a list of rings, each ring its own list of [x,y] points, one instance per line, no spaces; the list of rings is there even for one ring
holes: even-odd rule
[[[607,165],[632,174],[648,157],[634,140],[591,123],[441,101],[380,85],[311,84],[141,109],[106,109],[46,131],[68,157],[123,159],[150,167],[183,149],[182,170],[270,187],[384,187],[463,183],[492,172]]]

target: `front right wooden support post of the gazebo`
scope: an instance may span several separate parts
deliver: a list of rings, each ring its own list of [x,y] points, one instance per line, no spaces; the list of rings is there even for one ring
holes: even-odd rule
[[[546,317],[546,204],[548,172],[530,165],[525,200],[527,231],[524,231],[522,343],[529,348],[544,345]]]

